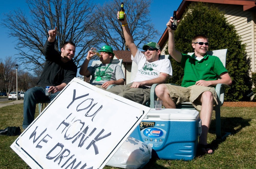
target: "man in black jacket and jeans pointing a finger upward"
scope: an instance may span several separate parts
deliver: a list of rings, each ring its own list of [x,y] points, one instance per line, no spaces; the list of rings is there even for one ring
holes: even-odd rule
[[[36,104],[52,101],[58,93],[77,74],[77,66],[72,58],[75,55],[76,45],[65,42],[61,52],[55,50],[57,27],[48,31],[49,37],[44,46],[45,66],[36,87],[26,91],[23,105],[23,129],[26,129],[35,118]],[[45,87],[50,86],[49,96],[46,96]]]

